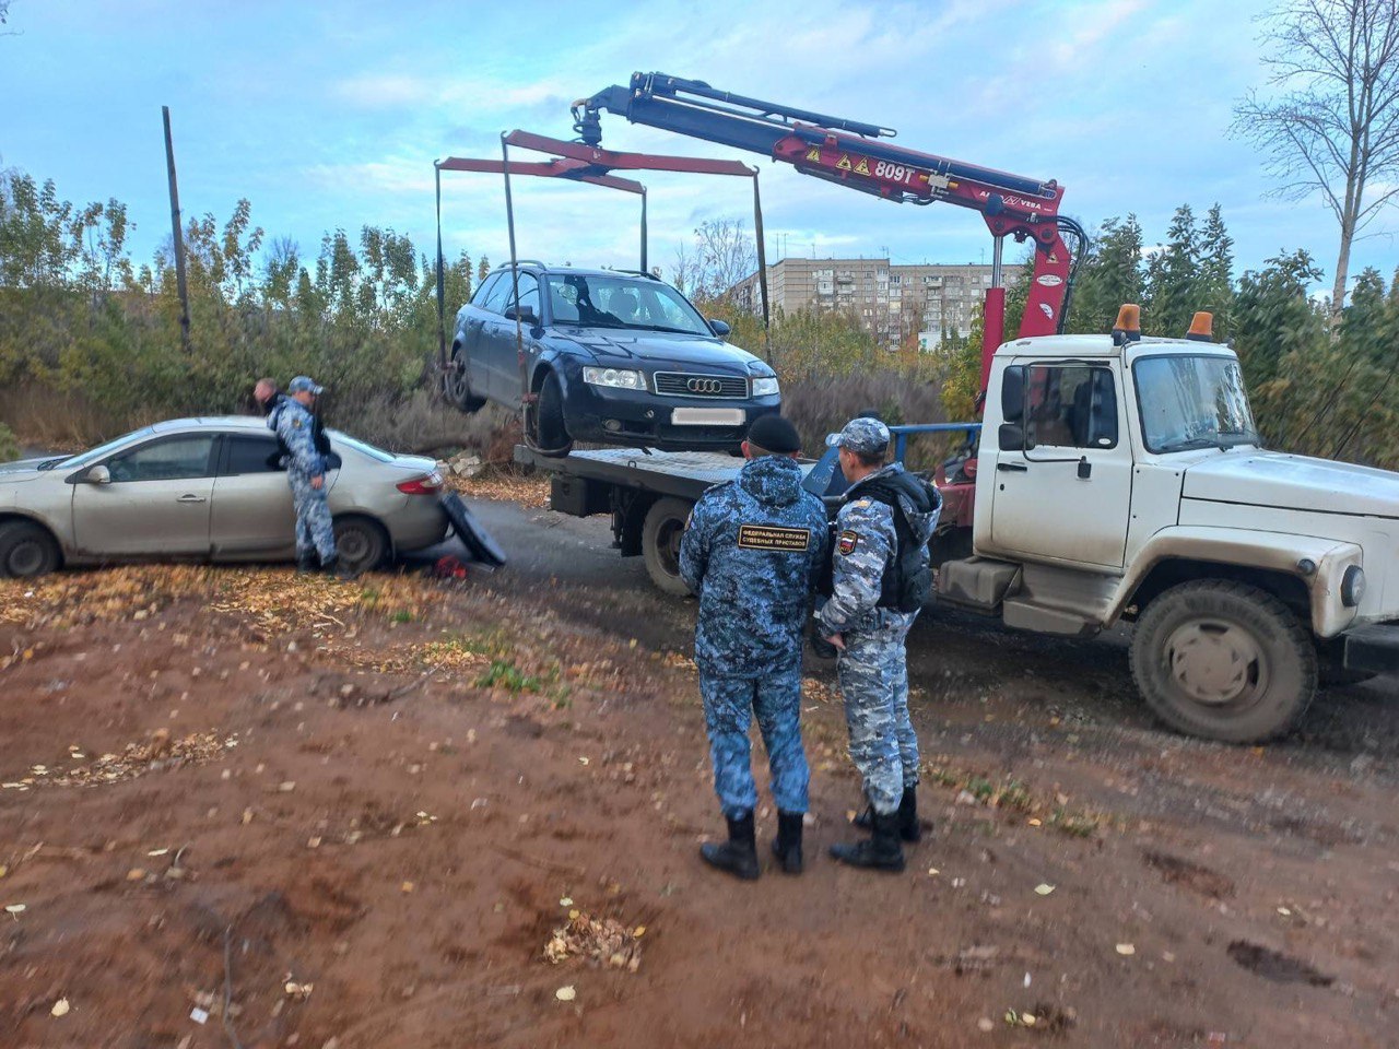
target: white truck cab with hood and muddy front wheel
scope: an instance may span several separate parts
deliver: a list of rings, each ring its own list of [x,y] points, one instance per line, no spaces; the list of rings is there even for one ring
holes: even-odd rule
[[[1399,669],[1399,474],[1265,450],[1227,345],[1003,344],[975,492],[939,599],[1049,634],[1135,621],[1137,687],[1178,730],[1269,738],[1319,674]]]

